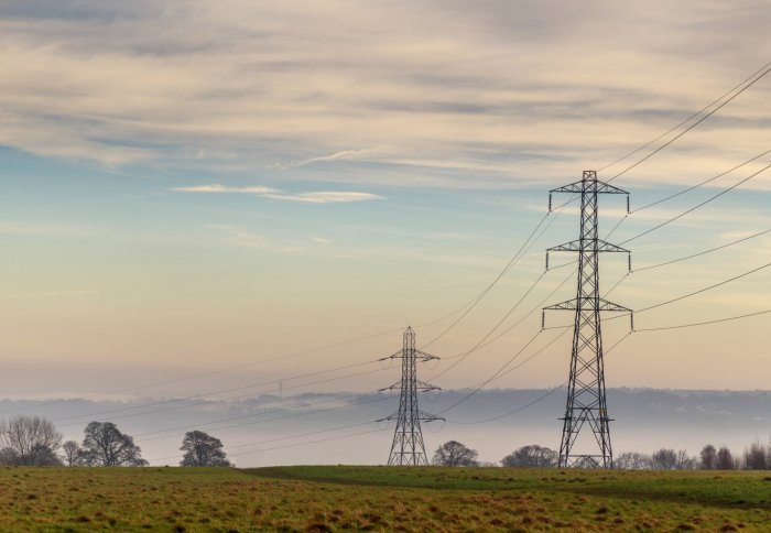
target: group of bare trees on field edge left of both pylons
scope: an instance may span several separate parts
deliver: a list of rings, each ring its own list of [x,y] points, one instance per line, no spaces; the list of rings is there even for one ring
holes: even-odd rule
[[[66,440],[40,416],[19,415],[0,422],[1,466],[146,466],[133,437],[112,422],[91,422],[83,442]],[[192,431],[182,440],[180,466],[232,466],[219,438]]]

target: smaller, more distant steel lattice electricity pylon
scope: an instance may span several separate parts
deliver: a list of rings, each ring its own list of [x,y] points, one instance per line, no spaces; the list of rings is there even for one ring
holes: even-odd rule
[[[402,379],[381,389],[381,391],[401,389],[399,398],[399,411],[382,421],[397,421],[397,428],[393,432],[393,444],[391,444],[391,454],[388,456],[389,465],[428,465],[428,459],[425,455],[425,446],[423,445],[423,433],[421,432],[421,421],[432,422],[444,420],[441,416],[425,413],[417,409],[417,393],[426,391],[437,391],[438,387],[425,383],[417,379],[417,361],[431,361],[438,359],[415,348],[415,331],[411,327],[404,330],[404,346],[401,351],[384,357],[386,359],[402,360]]]

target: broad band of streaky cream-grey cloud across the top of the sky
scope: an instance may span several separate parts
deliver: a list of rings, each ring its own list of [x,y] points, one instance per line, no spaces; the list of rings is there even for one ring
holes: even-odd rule
[[[373,160],[336,180],[406,186],[511,186],[611,161],[753,72],[769,22],[753,0],[6,3],[4,145],[113,166],[293,162],[307,178]],[[625,180],[688,183],[767,148],[763,90]]]

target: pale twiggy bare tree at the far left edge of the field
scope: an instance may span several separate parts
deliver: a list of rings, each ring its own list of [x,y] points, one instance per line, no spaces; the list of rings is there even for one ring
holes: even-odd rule
[[[7,465],[61,465],[56,457],[61,444],[62,434],[50,420],[19,415],[0,423],[0,459]]]

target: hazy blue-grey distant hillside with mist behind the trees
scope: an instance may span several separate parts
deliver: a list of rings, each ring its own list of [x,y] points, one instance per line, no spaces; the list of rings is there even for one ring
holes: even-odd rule
[[[497,461],[519,446],[558,447],[565,391],[480,391],[450,410],[447,422],[424,427],[431,455],[448,439],[479,450],[484,460]],[[428,393],[421,409],[441,412],[465,395]],[[535,401],[542,398],[540,401]],[[305,393],[280,398],[261,394],[239,400],[140,398],[132,401],[68,399],[58,402],[3,400],[2,416],[40,414],[54,420],[66,438],[82,439],[91,420],[112,421],[134,435],[148,459],[174,464],[183,434],[199,428],[219,437],[239,466],[278,464],[379,464],[388,457],[392,426],[384,423],[352,427],[383,418],[397,409],[397,393],[380,395],[340,392]],[[533,403],[535,401],[535,403]],[[526,409],[522,409],[531,404]],[[152,404],[152,405],[150,405]],[[616,453],[651,452],[658,447],[685,448],[697,454],[707,443],[741,452],[752,440],[771,436],[769,391],[680,391],[609,389],[611,438]],[[514,412],[487,423],[478,421]],[[338,431],[323,433],[329,428]],[[328,437],[381,432],[325,440]],[[296,438],[287,438],[302,434]],[[312,434],[312,435],[311,435]],[[308,440],[321,440],[305,445]],[[241,446],[242,445],[242,446]],[[287,446],[291,445],[291,446]],[[171,459],[169,459],[171,457]]]

